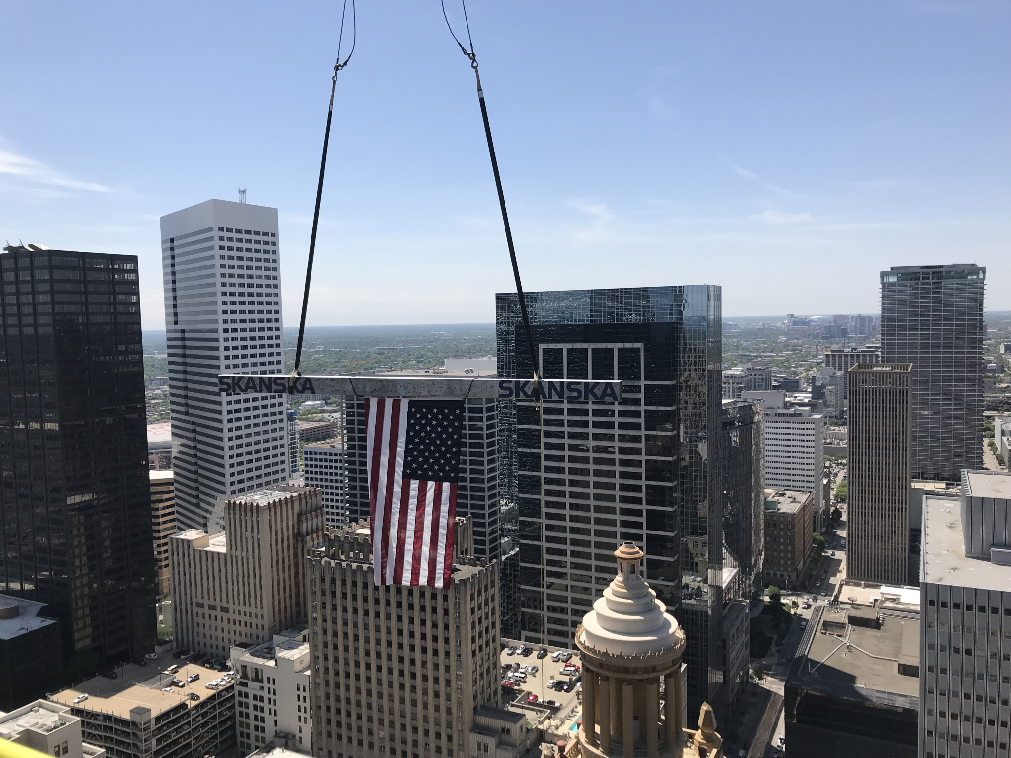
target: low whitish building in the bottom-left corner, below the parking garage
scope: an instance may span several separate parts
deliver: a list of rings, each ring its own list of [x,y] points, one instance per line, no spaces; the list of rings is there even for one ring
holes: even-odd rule
[[[6,671],[6,669],[5,669]],[[58,758],[105,758],[105,750],[81,738],[81,720],[70,708],[49,700],[0,714],[0,740]]]

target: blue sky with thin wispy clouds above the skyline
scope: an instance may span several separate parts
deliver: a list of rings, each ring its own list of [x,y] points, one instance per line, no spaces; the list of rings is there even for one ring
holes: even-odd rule
[[[454,20],[458,5],[448,0]],[[725,316],[875,312],[973,261],[1011,309],[1011,4],[472,2],[527,289],[723,285]],[[8,2],[0,240],[141,258],[211,197],[308,246],[340,3]],[[359,3],[309,320],[489,321],[513,289],[473,75],[433,0]]]

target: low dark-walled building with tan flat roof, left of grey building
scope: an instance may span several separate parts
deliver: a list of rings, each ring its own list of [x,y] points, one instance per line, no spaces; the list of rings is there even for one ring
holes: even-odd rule
[[[910,608],[815,608],[787,675],[791,754],[915,758],[920,622]]]

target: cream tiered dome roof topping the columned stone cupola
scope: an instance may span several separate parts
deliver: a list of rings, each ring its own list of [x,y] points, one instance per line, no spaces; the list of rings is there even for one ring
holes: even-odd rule
[[[639,574],[643,552],[635,543],[615,551],[618,576],[582,619],[581,642],[619,655],[663,653],[682,644],[683,633],[667,606]]]

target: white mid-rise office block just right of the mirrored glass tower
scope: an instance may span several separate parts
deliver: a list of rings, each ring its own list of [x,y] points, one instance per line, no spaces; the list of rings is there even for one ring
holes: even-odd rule
[[[825,497],[825,414],[792,405],[785,392],[747,392],[744,400],[765,403],[765,486],[814,493],[814,529],[827,524]]]

